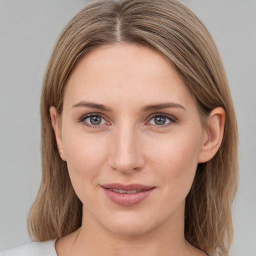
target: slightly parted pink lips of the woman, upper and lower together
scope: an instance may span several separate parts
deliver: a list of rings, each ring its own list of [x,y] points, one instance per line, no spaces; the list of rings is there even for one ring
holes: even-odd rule
[[[105,192],[105,195],[112,202],[122,205],[122,206],[133,206],[145,200],[152,191],[155,189],[153,186],[147,186],[142,184],[120,184],[120,183],[110,183],[101,185],[102,189]],[[122,190],[141,190],[135,193],[118,193],[110,190],[113,189],[122,189]]]

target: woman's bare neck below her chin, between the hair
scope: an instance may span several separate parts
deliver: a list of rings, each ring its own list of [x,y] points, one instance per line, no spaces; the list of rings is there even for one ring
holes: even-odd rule
[[[189,250],[184,239],[183,219],[178,211],[157,227],[131,235],[106,229],[83,209],[82,226],[71,255],[185,256]]]

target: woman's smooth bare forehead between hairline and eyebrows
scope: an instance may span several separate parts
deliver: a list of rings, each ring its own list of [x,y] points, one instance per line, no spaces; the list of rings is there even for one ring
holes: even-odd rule
[[[189,97],[184,82],[163,56],[145,46],[120,43],[81,57],[67,80],[64,102],[146,104],[175,99],[185,103]]]

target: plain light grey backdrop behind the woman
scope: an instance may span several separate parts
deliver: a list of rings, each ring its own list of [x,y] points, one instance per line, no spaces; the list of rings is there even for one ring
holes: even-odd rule
[[[256,256],[256,0],[183,0],[211,32],[238,118],[231,256]],[[54,42],[86,0],[0,0],[0,251],[30,241],[40,184],[41,82]]]

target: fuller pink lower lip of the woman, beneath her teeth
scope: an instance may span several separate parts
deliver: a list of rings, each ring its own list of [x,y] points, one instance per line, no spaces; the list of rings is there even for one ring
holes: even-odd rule
[[[138,204],[139,202],[146,199],[151,192],[154,190],[153,188],[142,190],[140,192],[136,192],[133,194],[127,193],[117,193],[105,187],[102,187],[105,191],[106,196],[114,203],[122,205],[122,206],[133,206]]]

